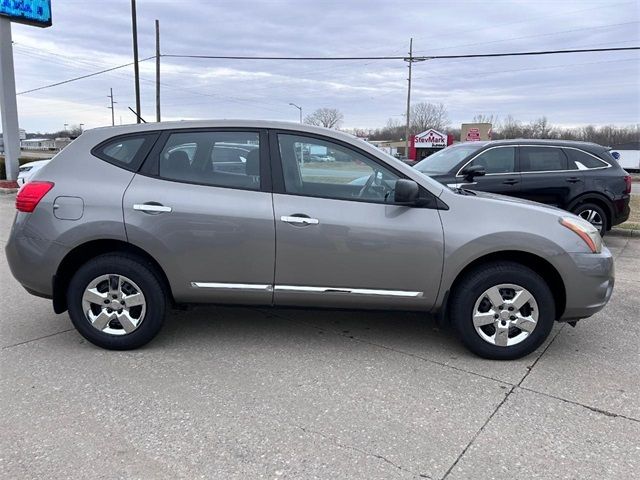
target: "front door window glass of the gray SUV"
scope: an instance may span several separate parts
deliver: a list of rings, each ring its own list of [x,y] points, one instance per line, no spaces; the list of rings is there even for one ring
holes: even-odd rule
[[[392,203],[398,176],[350,148],[298,135],[278,135],[288,193]]]

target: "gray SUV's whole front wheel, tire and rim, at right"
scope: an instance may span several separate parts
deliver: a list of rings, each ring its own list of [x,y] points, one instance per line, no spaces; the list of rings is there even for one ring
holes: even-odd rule
[[[555,320],[547,283],[513,262],[480,266],[465,275],[450,299],[451,320],[463,343],[493,359],[514,359],[544,342]]]

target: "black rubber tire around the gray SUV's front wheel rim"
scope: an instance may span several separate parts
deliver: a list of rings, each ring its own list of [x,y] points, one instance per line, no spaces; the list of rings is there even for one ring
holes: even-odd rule
[[[489,288],[500,284],[527,289],[538,306],[538,321],[533,331],[511,346],[489,343],[481,338],[473,324],[476,301]],[[542,277],[530,268],[507,261],[482,265],[467,273],[451,293],[449,305],[451,322],[462,343],[476,355],[494,360],[513,360],[533,352],[549,336],[556,318],[553,295]]]

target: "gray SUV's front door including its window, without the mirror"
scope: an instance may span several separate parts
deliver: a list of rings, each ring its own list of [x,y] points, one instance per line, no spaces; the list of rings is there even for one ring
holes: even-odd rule
[[[281,160],[274,163],[275,304],[432,306],[443,261],[435,203],[394,205],[401,175],[352,146],[272,135],[272,158]]]

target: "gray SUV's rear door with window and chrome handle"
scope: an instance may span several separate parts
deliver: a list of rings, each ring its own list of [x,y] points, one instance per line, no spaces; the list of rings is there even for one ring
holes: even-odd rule
[[[266,132],[165,132],[123,199],[127,237],[183,302],[270,304],[275,227]]]

